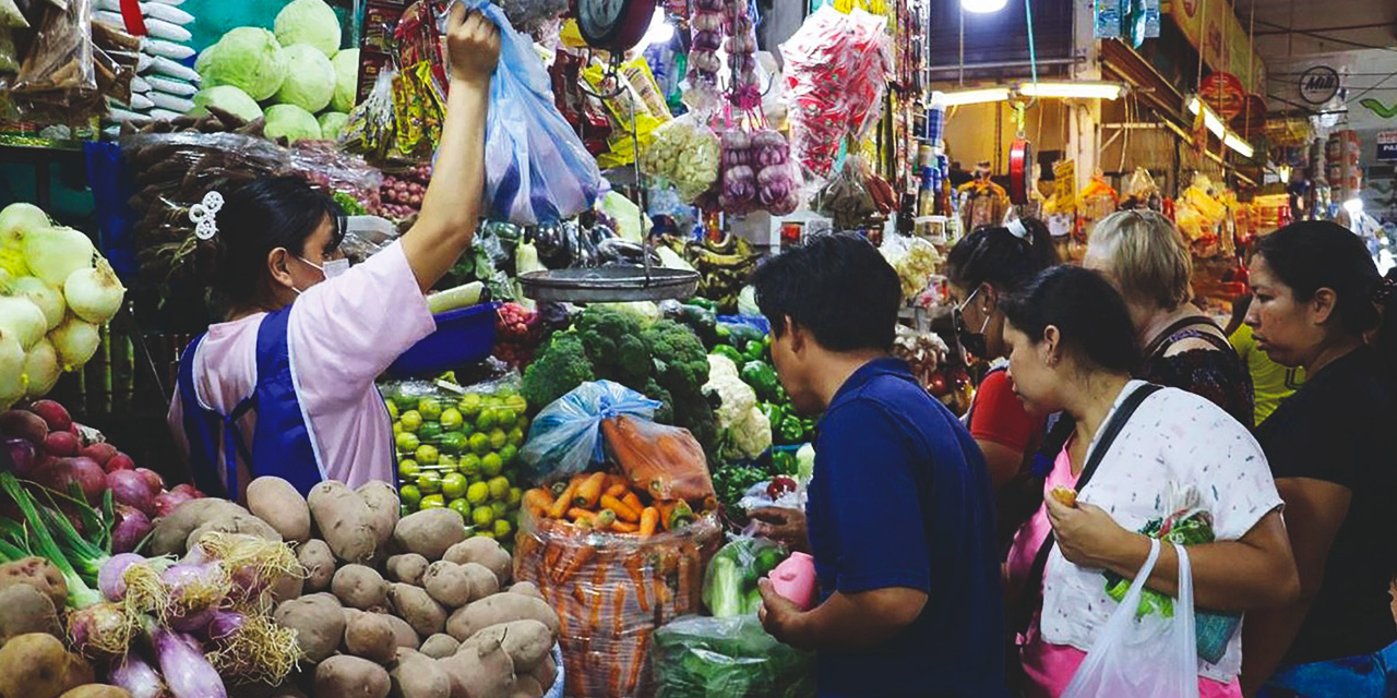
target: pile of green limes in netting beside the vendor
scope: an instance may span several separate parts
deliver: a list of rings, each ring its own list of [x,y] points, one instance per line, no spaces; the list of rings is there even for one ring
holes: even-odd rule
[[[528,403],[513,389],[461,396],[398,394],[393,417],[404,512],[447,507],[476,536],[511,540],[522,489],[514,465]]]

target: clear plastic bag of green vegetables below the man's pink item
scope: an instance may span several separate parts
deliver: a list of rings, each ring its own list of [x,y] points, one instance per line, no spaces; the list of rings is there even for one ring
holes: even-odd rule
[[[756,616],[689,616],[655,632],[661,698],[810,698],[814,655],[777,642]]]

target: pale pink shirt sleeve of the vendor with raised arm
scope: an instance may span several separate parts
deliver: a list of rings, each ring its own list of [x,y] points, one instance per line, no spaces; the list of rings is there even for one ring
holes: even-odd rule
[[[307,413],[346,406],[436,322],[400,243],[312,286],[288,321],[292,370]]]

